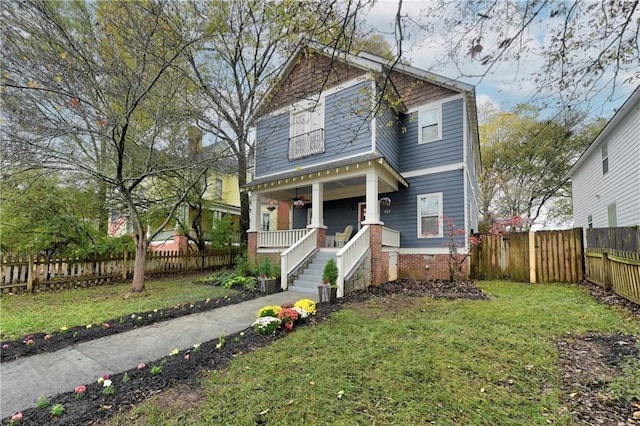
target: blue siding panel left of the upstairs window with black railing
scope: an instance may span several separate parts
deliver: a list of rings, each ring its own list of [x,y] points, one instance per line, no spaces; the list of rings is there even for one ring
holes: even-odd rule
[[[260,120],[256,129],[256,178],[291,169],[288,141],[288,112]]]

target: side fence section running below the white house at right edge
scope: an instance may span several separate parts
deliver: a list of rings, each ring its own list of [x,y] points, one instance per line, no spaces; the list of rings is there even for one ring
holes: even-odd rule
[[[640,226],[587,229],[586,279],[640,304]]]

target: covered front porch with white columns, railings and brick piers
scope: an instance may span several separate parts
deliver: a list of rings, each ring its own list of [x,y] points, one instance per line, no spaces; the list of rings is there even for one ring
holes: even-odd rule
[[[338,297],[355,275],[366,285],[393,278],[389,258],[395,257],[383,256],[383,247],[398,248],[400,233],[384,227],[380,211],[399,185],[407,183],[382,158],[252,182],[249,254],[279,257],[283,289],[295,285],[320,250],[335,246]],[[261,229],[265,212],[282,203],[289,208],[288,229]],[[350,238],[341,242],[337,234],[348,228]]]

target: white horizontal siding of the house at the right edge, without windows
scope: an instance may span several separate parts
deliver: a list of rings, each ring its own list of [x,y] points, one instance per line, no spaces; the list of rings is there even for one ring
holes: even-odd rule
[[[631,109],[626,118],[604,139],[609,154],[609,172],[602,174],[598,141],[589,157],[583,159],[572,176],[574,225],[587,227],[588,216],[594,228],[608,226],[607,207],[616,203],[617,225],[640,224],[640,111]]]

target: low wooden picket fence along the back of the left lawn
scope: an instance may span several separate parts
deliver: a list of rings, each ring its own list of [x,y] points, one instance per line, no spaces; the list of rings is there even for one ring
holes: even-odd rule
[[[158,275],[232,266],[239,248],[205,254],[150,252],[145,274]],[[58,289],[125,281],[133,276],[133,256],[124,252],[95,260],[0,257],[0,293]]]

